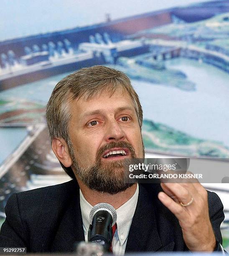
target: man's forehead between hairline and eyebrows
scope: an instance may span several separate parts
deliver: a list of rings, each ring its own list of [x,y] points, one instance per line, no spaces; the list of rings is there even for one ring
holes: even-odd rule
[[[88,100],[83,97],[72,100],[70,102],[72,115],[83,116],[86,113],[94,110],[115,111],[120,108],[128,108],[135,111],[134,104],[128,92],[116,90],[113,94],[111,92],[101,92]]]

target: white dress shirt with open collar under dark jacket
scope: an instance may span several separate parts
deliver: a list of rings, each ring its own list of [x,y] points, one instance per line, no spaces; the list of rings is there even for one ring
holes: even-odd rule
[[[121,205],[117,212],[117,230],[114,233],[114,237],[112,240],[112,252],[116,255],[124,255],[125,248],[127,244],[127,237],[130,230],[130,225],[132,223],[132,219],[135,213],[136,205],[137,205],[137,198],[138,198],[138,184],[137,189],[134,195],[127,201],[125,204]],[[87,235],[89,225],[91,224],[89,215],[92,210],[92,205],[87,202],[84,198],[83,193],[81,190],[79,191],[80,194],[80,207],[83,219],[83,228],[84,228],[84,236],[85,241],[87,242]]]

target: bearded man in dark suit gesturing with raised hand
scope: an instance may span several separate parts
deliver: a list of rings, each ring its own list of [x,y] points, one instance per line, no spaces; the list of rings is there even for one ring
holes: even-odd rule
[[[54,88],[46,110],[53,151],[72,178],[14,194],[0,247],[66,252],[87,241],[92,206],[117,210],[112,251],[220,251],[219,197],[199,183],[126,184],[123,161],[144,158],[142,108],[120,71],[80,69]]]

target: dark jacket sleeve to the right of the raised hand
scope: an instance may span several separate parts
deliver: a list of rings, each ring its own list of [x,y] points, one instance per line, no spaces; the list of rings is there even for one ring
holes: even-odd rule
[[[214,251],[222,251],[221,246],[222,235],[220,230],[220,225],[224,220],[224,206],[219,198],[219,196],[214,192],[208,191],[208,203],[209,203],[209,217],[211,220],[211,225],[216,237],[216,247]]]

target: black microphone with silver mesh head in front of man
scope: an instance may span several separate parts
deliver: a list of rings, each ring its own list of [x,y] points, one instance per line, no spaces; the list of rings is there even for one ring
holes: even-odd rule
[[[112,243],[112,227],[116,223],[117,213],[112,205],[99,203],[90,212],[88,241],[99,243],[105,251],[109,251]]]

